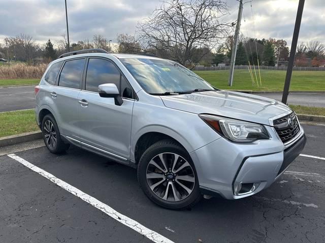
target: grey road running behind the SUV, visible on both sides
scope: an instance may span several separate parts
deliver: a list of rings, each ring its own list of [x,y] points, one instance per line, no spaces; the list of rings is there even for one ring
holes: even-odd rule
[[[281,101],[282,94],[257,94]],[[30,109],[35,107],[34,86],[0,89],[0,112],[9,110]],[[288,103],[325,107],[325,94],[291,93]]]

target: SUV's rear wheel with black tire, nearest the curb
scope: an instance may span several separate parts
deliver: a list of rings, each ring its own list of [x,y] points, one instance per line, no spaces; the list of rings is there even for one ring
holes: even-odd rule
[[[47,149],[51,153],[62,153],[70,146],[61,139],[59,128],[52,114],[47,114],[42,120],[42,136]]]

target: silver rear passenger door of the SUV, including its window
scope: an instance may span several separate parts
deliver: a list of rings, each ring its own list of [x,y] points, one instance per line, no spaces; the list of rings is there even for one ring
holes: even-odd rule
[[[67,60],[53,86],[51,97],[55,104],[55,115],[60,133],[78,139],[78,95],[81,90],[83,69],[86,58]]]

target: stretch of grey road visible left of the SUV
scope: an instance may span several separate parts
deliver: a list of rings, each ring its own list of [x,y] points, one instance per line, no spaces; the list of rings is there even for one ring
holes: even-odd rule
[[[0,89],[0,112],[34,107],[34,86]]]

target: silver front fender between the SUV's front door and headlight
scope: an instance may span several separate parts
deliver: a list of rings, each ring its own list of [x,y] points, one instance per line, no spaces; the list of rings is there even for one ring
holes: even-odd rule
[[[174,138],[188,153],[220,138],[198,114],[167,108],[160,97],[146,98],[144,95],[135,102],[133,109],[131,161],[135,162],[134,151],[138,139],[148,132],[163,133]]]

